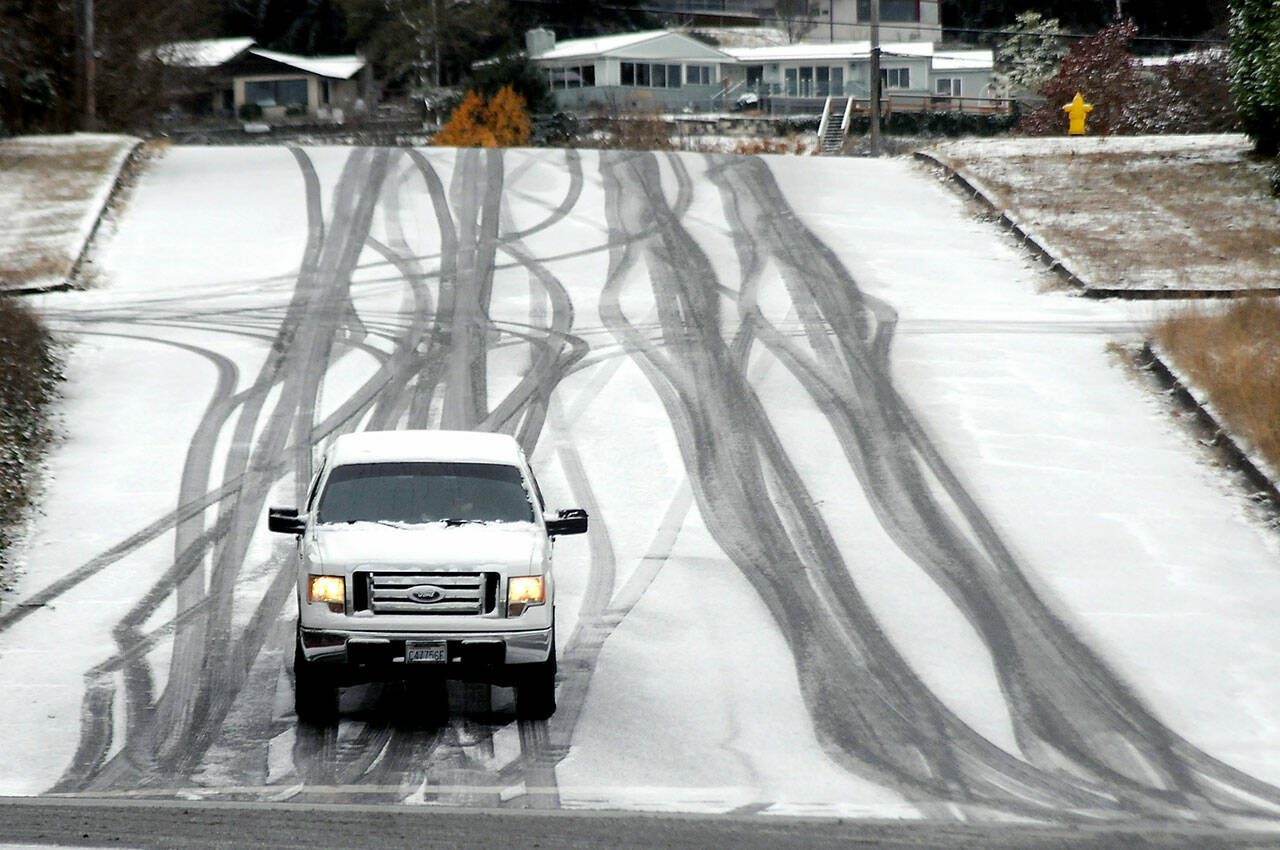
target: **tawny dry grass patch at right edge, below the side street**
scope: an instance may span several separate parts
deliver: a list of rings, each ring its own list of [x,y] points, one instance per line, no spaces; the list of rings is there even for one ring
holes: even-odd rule
[[[1280,470],[1280,301],[1183,307],[1160,323],[1155,338],[1208,393],[1228,430]]]

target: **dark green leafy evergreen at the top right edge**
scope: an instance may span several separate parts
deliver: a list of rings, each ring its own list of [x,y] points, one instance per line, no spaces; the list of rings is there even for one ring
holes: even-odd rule
[[[1280,0],[1231,0],[1231,95],[1260,154],[1280,151]]]

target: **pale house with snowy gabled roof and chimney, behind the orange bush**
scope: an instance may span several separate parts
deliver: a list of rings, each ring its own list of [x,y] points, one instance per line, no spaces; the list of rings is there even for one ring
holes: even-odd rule
[[[525,46],[563,109],[593,104],[657,111],[707,109],[723,95],[724,68],[735,64],[727,52],[677,29],[561,42],[549,29],[530,29]]]

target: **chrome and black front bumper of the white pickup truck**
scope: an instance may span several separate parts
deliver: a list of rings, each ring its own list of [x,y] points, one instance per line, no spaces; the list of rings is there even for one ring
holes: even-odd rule
[[[298,644],[308,662],[357,680],[401,678],[417,675],[485,676],[508,667],[545,662],[554,629],[502,632],[379,632],[300,629]],[[445,659],[406,661],[406,643],[444,644]],[[485,676],[494,678],[493,676]],[[500,678],[500,677],[498,677]]]

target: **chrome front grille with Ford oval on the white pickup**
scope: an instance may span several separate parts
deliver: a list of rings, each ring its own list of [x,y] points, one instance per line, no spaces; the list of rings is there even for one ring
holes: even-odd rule
[[[375,614],[485,614],[497,572],[357,572],[352,607]]]

